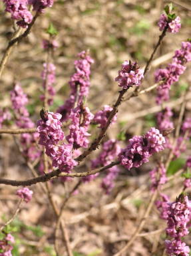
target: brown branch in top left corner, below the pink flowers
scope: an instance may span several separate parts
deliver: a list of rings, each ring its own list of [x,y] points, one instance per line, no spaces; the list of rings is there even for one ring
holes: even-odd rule
[[[33,24],[35,23],[37,17],[39,16],[39,12],[37,11],[35,16],[33,17],[33,20],[32,22],[28,25],[27,29],[25,30],[25,32],[22,34],[22,35],[19,35],[19,33],[21,33],[21,28],[18,29],[19,33],[17,33],[17,37],[11,39],[11,41],[9,41],[8,45],[7,45],[7,48],[5,49],[5,53],[1,59],[1,63],[0,63],[0,78],[1,78],[1,75],[3,73],[3,70],[5,68],[5,65],[7,63],[7,60],[9,59],[9,55],[13,49],[13,46],[16,44],[16,43],[19,43],[23,38],[27,37],[27,35],[29,35],[29,33],[31,32],[31,27],[33,26]]]

